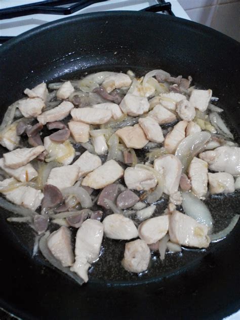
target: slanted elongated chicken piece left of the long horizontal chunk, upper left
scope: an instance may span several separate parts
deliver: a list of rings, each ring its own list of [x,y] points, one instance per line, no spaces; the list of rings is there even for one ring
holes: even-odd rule
[[[47,122],[60,121],[64,119],[70,113],[74,105],[69,101],[63,101],[57,107],[43,112],[37,116],[37,121],[43,125]]]

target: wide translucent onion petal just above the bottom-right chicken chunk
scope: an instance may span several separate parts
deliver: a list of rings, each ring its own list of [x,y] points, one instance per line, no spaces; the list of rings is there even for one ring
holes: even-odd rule
[[[208,207],[191,192],[182,192],[182,207],[189,217],[197,222],[205,224],[211,231],[213,227],[213,218]]]

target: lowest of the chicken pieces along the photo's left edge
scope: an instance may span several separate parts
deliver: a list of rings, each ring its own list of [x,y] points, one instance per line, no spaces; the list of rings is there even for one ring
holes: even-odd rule
[[[44,197],[41,190],[36,190],[32,187],[26,186],[20,186],[15,189],[13,186],[13,188],[10,188],[10,191],[3,193],[9,201],[32,211],[35,211],[41,205]]]

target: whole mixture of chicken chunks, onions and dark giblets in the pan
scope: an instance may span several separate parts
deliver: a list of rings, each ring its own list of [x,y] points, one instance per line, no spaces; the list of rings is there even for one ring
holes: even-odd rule
[[[153,251],[207,248],[233,229],[238,215],[213,234],[204,199],[240,189],[240,147],[212,90],[191,82],[106,71],[24,90],[1,125],[0,205],[34,229],[33,254],[82,284],[103,237],[126,241],[119,264],[141,273]]]

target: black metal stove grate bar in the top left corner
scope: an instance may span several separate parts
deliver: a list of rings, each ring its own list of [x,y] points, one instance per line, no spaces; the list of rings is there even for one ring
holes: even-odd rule
[[[15,17],[27,16],[31,14],[56,14],[69,15],[78,10],[84,9],[92,4],[98,2],[105,2],[108,0],[54,0],[48,2],[37,2],[34,4],[17,6],[13,8],[1,9],[0,20],[10,19]],[[60,7],[63,5],[72,4],[69,7]]]

